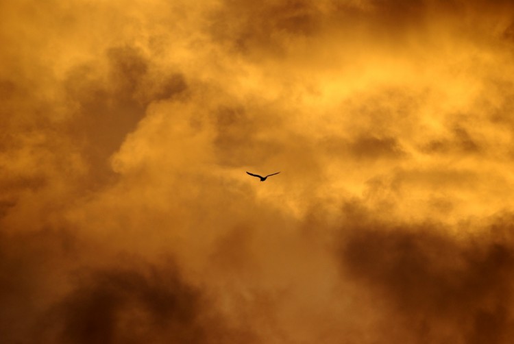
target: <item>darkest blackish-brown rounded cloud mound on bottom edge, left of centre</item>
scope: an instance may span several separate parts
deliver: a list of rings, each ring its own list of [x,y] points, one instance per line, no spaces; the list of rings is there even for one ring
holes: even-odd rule
[[[72,343],[223,343],[234,340],[176,269],[105,269],[82,278],[51,319]],[[237,341],[234,341],[237,342]]]

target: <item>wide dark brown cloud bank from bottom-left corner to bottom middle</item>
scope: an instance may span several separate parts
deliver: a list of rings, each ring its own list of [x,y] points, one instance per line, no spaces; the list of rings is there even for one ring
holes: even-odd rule
[[[229,326],[209,291],[186,282],[172,260],[149,265],[97,247],[106,261],[123,263],[93,266],[85,242],[64,230],[0,233],[0,239],[3,343],[253,343],[256,338]],[[68,282],[56,284],[63,280]]]

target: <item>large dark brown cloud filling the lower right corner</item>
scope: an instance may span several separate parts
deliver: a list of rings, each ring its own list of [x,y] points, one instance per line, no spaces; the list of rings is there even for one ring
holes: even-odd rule
[[[404,323],[408,338],[420,343],[509,342],[512,216],[479,232],[463,225],[456,235],[442,224],[387,223],[349,209],[341,266],[395,310],[389,326]],[[384,335],[387,343],[392,332]]]

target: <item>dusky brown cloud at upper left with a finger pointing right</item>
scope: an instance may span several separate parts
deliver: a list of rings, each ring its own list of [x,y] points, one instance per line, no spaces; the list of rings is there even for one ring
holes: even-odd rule
[[[156,70],[134,47],[111,47],[105,60],[107,75],[102,75],[101,62],[97,62],[75,67],[65,82],[66,97],[77,108],[65,127],[95,174],[91,178],[95,182],[112,174],[110,156],[136,129],[149,103],[186,89],[180,73],[166,75]]]

